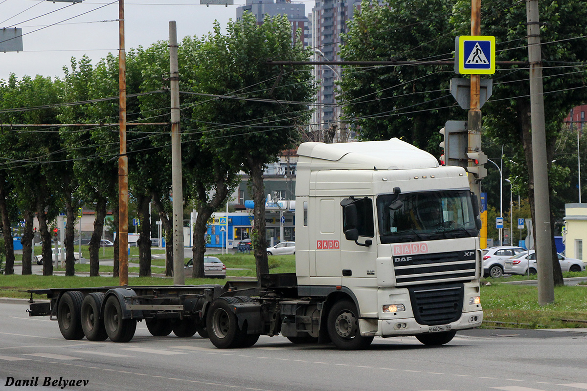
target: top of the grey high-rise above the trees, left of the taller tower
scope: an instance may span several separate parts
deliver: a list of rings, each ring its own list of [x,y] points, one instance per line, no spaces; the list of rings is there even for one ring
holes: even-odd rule
[[[308,46],[308,17],[306,16],[306,5],[303,3],[292,3],[288,0],[247,0],[246,5],[237,7],[237,21],[242,18],[244,12],[251,12],[261,25],[266,15],[285,15],[292,26],[292,40],[296,38],[295,32],[302,30],[303,46]]]

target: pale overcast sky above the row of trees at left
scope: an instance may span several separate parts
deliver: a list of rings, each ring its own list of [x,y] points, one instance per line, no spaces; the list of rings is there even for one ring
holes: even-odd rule
[[[177,22],[178,40],[207,34],[215,20],[224,28],[229,19],[236,18],[237,6],[245,4],[245,0],[234,2],[235,5],[205,6],[199,4],[200,0],[125,0],[126,50],[167,40],[169,21]],[[313,0],[295,2],[306,4],[306,15],[312,11]],[[0,0],[0,28],[22,28],[24,48],[18,53],[0,52],[0,79],[8,79],[11,73],[18,77],[62,77],[62,68],[69,66],[72,56],[79,59],[87,55],[96,64],[109,52],[117,55],[118,15],[118,1],[112,0],[76,4],[59,0]]]

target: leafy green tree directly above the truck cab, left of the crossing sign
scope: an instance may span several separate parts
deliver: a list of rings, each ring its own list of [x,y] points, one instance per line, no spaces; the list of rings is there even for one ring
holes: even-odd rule
[[[380,6],[363,1],[348,22],[340,56],[348,61],[451,60],[452,4],[386,0]],[[440,155],[438,130],[449,119],[466,118],[448,93],[452,71],[431,64],[345,66],[338,100],[363,140],[397,137]]]

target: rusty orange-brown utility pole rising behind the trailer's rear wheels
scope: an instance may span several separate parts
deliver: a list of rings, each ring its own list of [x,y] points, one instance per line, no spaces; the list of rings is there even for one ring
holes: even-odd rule
[[[126,53],[124,51],[124,0],[118,0],[120,155],[118,158],[118,257],[120,286],[129,284],[129,158],[126,155]]]

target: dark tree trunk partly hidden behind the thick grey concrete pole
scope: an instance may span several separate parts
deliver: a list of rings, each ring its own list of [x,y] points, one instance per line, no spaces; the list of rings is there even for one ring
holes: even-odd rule
[[[528,199],[530,203],[530,215],[532,216],[532,232],[536,232],[536,206],[534,202],[534,164],[532,164],[532,124],[530,121],[530,103],[529,100],[517,100],[517,111],[521,113],[519,118],[521,118],[521,128],[522,128],[522,145],[524,146],[524,156],[526,159],[526,166],[528,167]],[[527,113],[527,115],[525,115]],[[548,167],[550,168],[551,161],[552,161],[552,154],[554,151],[554,142],[547,143],[549,147],[547,147],[547,156],[548,159]],[[552,195],[552,191],[550,191]],[[551,199],[552,201],[552,199]],[[538,205],[541,208],[541,205]],[[554,242],[554,216],[552,215],[552,209],[550,210],[550,224],[551,224],[551,232],[552,232],[552,276],[554,278],[554,285],[561,286],[564,285],[565,282],[562,278],[562,270],[561,270],[561,263],[558,260],[558,256],[556,254],[556,245]],[[534,248],[536,248],[536,234],[534,234]]]

